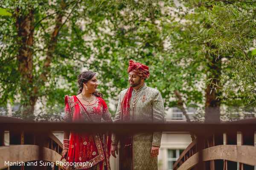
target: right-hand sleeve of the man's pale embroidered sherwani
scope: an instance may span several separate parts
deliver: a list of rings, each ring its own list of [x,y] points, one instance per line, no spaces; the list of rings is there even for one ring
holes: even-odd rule
[[[163,98],[161,96],[160,91],[154,96],[152,101],[152,111],[153,111],[153,123],[163,123],[164,122],[164,106],[163,106]],[[154,132],[153,133],[153,142],[152,146],[160,147],[162,138],[162,132]]]

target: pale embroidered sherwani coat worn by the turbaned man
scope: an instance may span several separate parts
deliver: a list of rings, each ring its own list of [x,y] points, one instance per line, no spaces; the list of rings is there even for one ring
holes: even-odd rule
[[[120,122],[121,102],[127,90],[125,89],[120,93],[115,122]],[[130,100],[130,122],[163,123],[164,106],[160,91],[145,84],[142,90],[134,108],[132,98]],[[120,165],[119,169],[157,170],[157,158],[151,157],[151,147],[160,147],[161,137],[162,132],[133,134],[131,167]],[[112,136],[112,144],[118,144],[115,135]]]

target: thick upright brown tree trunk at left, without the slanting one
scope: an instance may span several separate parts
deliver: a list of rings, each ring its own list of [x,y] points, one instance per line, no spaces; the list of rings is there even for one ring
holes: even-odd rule
[[[33,30],[34,11],[24,16],[21,9],[16,8],[17,44],[19,47],[17,60],[20,72],[21,100],[23,101],[23,117],[33,120],[34,106],[37,97],[33,93]]]

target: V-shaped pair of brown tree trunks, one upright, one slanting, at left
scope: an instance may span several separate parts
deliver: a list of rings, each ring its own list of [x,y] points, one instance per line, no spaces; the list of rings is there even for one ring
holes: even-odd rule
[[[61,3],[61,11],[57,13],[56,25],[52,32],[52,37],[48,44],[47,56],[44,62],[44,66],[40,75],[40,79],[37,80],[37,85],[35,81],[33,82],[33,33],[34,33],[34,11],[31,9],[27,17],[23,16],[21,9],[16,8],[16,28],[18,31],[17,34],[17,43],[19,45],[19,53],[17,56],[19,67],[18,71],[20,72],[20,87],[21,87],[21,96],[23,99],[21,102],[23,106],[23,119],[33,121],[35,103],[38,99],[38,89],[44,86],[47,81],[47,75],[49,74],[50,64],[52,62],[53,53],[56,47],[56,41],[58,32],[62,26],[62,18],[64,16],[63,10],[65,9],[64,3]]]

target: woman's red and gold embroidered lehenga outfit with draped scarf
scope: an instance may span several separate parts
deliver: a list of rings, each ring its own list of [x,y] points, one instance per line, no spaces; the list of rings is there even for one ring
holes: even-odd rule
[[[96,97],[93,105],[82,105],[76,96],[65,98],[65,122],[112,122],[108,106],[101,97]],[[74,166],[64,166],[65,170],[110,170],[110,137],[101,133],[70,132],[70,146],[67,153],[67,162],[76,162]],[[79,166],[82,162],[90,162]],[[92,165],[91,165],[92,164]]]

